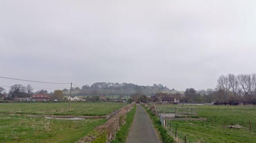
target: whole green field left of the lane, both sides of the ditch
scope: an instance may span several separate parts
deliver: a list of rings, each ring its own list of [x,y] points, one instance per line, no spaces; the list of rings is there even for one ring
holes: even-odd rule
[[[0,103],[0,143],[75,143],[107,119],[63,120],[34,115],[107,115],[124,103]]]

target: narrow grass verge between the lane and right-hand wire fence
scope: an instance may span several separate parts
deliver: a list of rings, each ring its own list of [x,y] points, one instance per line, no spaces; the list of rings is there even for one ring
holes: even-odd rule
[[[169,136],[166,129],[164,129],[159,118],[157,116],[155,116],[149,109],[147,109],[147,107],[145,107],[144,105],[143,105],[143,107],[147,111],[148,116],[150,117],[155,129],[158,130],[158,132],[161,136],[161,139],[162,139],[162,143],[173,143],[173,138],[171,136]]]

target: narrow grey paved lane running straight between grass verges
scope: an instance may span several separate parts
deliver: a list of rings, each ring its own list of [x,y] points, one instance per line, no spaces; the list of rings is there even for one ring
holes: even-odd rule
[[[161,143],[147,112],[139,104],[126,143]]]

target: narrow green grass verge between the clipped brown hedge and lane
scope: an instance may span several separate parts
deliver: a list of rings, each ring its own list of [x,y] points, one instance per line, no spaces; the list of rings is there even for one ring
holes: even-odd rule
[[[131,111],[126,114],[127,116],[126,116],[125,124],[117,132],[117,136],[115,137],[115,140],[111,141],[111,143],[125,143],[132,126],[132,121],[134,119],[135,112],[136,112],[136,105],[134,105]]]

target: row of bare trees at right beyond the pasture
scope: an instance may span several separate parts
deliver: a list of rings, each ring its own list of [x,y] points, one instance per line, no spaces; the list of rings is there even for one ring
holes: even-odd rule
[[[226,74],[217,79],[215,89],[187,88],[183,102],[245,102],[256,103],[256,74]]]

